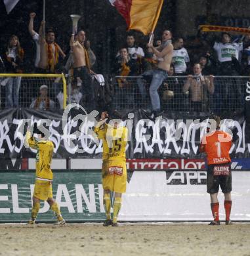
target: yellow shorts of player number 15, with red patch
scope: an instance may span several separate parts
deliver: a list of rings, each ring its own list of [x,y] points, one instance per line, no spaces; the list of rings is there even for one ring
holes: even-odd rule
[[[102,163],[102,186],[104,190],[117,193],[126,192],[126,161],[111,160]]]

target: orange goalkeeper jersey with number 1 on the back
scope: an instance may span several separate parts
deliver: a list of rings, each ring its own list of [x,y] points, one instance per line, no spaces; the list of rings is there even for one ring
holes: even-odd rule
[[[229,151],[232,137],[224,131],[215,131],[203,136],[201,143],[207,153],[207,164],[228,163],[231,161]]]

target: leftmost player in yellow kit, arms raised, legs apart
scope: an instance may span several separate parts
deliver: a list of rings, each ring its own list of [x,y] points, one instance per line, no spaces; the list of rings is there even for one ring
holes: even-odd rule
[[[31,210],[31,219],[29,224],[35,224],[35,219],[39,212],[40,200],[46,200],[54,211],[57,224],[65,224],[64,219],[60,213],[58,204],[52,196],[52,179],[51,160],[54,150],[54,144],[50,140],[43,140],[45,135],[39,131],[35,123],[33,134],[37,134],[37,138],[31,136],[28,129],[26,133],[25,144],[37,150],[36,165],[35,165],[35,188],[33,192],[33,207]]]

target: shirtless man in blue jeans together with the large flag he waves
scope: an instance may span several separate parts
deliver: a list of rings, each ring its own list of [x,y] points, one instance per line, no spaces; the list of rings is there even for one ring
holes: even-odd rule
[[[152,119],[154,119],[161,111],[157,90],[167,78],[167,72],[169,72],[173,56],[172,33],[169,30],[163,31],[162,45],[155,48],[152,43],[154,29],[156,28],[159,13],[161,12],[163,0],[110,0],[110,3],[125,18],[128,30],[138,30],[144,33],[144,35],[150,34],[148,47],[152,49],[158,58],[157,69],[144,72],[142,76],[152,77],[150,83],[150,99],[152,104]],[[146,97],[144,80],[138,78],[137,83],[143,100]]]

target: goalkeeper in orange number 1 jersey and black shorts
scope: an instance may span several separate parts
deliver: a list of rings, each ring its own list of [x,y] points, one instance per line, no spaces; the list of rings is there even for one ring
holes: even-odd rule
[[[219,219],[219,186],[224,194],[224,208],[226,212],[226,225],[232,224],[230,213],[232,207],[232,172],[230,148],[232,136],[220,130],[220,117],[212,116],[216,121],[216,131],[204,135],[201,139],[200,152],[207,154],[207,193],[210,194],[211,211],[214,220],[209,225],[220,225]]]

